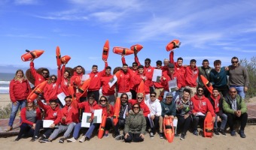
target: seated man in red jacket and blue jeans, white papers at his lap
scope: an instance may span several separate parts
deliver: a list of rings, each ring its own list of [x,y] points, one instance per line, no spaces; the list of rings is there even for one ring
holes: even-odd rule
[[[94,113],[94,110],[97,110],[99,107],[97,102],[95,101],[95,95],[93,93],[88,94],[87,101],[78,103],[77,105],[78,105],[78,109],[83,109],[84,113],[92,113],[92,115]],[[89,121],[91,122],[90,126],[92,126],[93,118],[90,118]],[[73,131],[73,137],[67,139],[67,142],[76,142],[76,140],[78,139],[80,130],[81,130],[81,122],[79,122],[78,124],[75,124],[74,131]],[[93,133],[92,128],[90,130],[87,130],[87,132],[84,133],[84,136],[83,136],[84,140],[87,138],[90,138],[92,133]]]

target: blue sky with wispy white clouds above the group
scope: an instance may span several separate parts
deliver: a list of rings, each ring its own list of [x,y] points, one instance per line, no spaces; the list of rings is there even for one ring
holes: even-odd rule
[[[151,0],[1,0],[0,66],[29,68],[20,56],[25,49],[43,49],[35,68],[56,68],[55,49],[70,55],[68,67],[92,65],[102,70],[102,47],[109,40],[108,65],[121,65],[114,46],[144,46],[139,60],[169,58],[166,44],[179,39],[175,60],[191,58],[200,66],[204,58],[210,65],[221,59],[230,65],[233,56],[250,60],[256,53],[256,3],[247,1],[151,1]],[[128,65],[133,55],[126,56]],[[1,71],[2,72],[2,71]]]

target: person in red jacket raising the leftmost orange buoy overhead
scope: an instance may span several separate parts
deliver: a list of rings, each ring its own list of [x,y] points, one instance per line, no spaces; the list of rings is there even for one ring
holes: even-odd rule
[[[41,70],[41,74],[38,74],[36,72],[35,67],[34,67],[34,58],[32,58],[31,62],[30,62],[30,71],[31,71],[32,76],[35,79],[34,86],[38,86],[38,84],[43,83],[45,80],[48,80],[48,77],[50,75],[50,72],[47,68],[43,68]]]

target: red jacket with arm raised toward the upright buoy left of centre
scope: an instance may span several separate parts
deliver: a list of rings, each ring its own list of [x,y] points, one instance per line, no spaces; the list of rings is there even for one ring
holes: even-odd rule
[[[108,67],[108,62],[105,62],[105,68]],[[105,74],[105,69],[100,72],[93,73],[93,71],[89,74],[90,75],[90,86],[88,91],[99,91],[100,89],[100,78]]]

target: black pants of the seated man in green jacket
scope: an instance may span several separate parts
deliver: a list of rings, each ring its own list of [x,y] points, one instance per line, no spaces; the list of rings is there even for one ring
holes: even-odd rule
[[[247,123],[247,119],[248,119],[247,113],[243,113],[242,115],[240,115],[240,117],[237,117],[236,115],[231,114],[231,113],[227,113],[227,123],[230,126],[230,130],[234,130],[233,125],[236,120],[241,121],[240,130],[245,130],[245,125]]]

